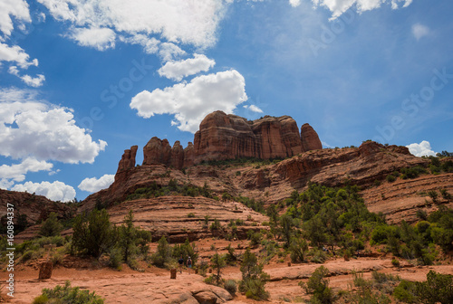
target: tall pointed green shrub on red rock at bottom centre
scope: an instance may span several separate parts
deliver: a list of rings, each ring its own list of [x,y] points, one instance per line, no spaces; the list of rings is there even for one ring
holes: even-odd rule
[[[255,253],[247,248],[244,253],[244,260],[240,268],[242,280],[239,283],[239,290],[246,292],[246,297],[256,300],[269,298],[269,293],[265,290],[266,280],[269,275],[263,271],[263,264],[258,263]]]

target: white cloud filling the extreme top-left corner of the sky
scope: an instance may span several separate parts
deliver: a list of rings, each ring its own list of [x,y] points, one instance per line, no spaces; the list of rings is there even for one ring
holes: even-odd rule
[[[26,1],[2,0],[0,2],[0,31],[5,36],[9,36],[14,29],[12,16],[16,22],[32,22]]]

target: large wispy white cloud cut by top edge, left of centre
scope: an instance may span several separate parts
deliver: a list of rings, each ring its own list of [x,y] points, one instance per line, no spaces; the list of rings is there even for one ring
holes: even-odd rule
[[[116,33],[159,35],[169,43],[206,48],[216,43],[216,31],[231,1],[186,0],[38,0],[53,18],[78,27],[109,27]],[[75,37],[72,37],[75,38]]]

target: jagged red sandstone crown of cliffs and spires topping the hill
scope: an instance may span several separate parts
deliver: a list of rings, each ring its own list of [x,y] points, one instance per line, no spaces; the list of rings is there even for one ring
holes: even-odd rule
[[[179,141],[171,147],[167,139],[151,138],[143,147],[142,165],[182,169],[209,160],[285,158],[322,148],[318,134],[309,124],[304,124],[299,132],[289,116],[247,120],[215,111],[201,121],[193,144],[189,142],[186,148]],[[124,151],[118,172],[135,166],[137,149],[133,146]]]

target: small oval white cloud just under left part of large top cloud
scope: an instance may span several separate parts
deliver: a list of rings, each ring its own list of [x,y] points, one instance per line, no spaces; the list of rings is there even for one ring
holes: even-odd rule
[[[82,46],[91,46],[98,51],[115,47],[116,34],[110,28],[74,28],[69,35]]]

